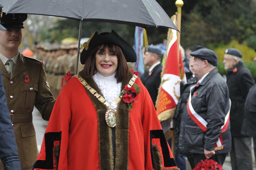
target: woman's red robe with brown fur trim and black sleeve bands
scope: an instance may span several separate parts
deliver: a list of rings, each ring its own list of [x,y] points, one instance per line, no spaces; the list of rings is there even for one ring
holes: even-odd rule
[[[129,72],[121,89],[132,77]],[[141,91],[138,101],[130,110],[121,99],[116,127],[111,128],[105,121],[108,107],[81,79],[69,79],[56,100],[33,169],[178,170],[150,95],[139,78],[134,80]],[[102,96],[93,79],[85,81]]]

